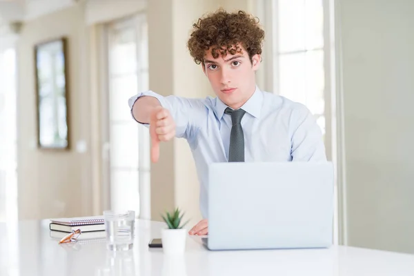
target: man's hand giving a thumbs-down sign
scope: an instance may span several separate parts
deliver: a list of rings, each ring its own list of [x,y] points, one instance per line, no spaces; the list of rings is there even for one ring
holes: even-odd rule
[[[159,159],[159,141],[170,141],[175,137],[175,121],[168,109],[155,107],[150,114],[151,160]]]

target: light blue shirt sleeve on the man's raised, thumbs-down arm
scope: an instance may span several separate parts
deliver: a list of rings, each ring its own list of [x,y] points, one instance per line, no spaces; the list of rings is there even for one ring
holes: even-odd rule
[[[134,106],[137,99],[143,96],[155,97],[156,99],[158,99],[159,103],[161,103],[161,106],[163,108],[166,108],[168,109],[168,111],[170,111],[170,114],[172,115],[172,118],[174,119],[176,125],[175,136],[179,138],[188,138],[188,128],[193,123],[194,119],[192,115],[199,113],[195,111],[200,110],[204,107],[204,104],[202,103],[201,99],[188,99],[173,95],[164,97],[162,95],[157,94],[156,92],[149,90],[146,92],[140,92],[138,95],[130,97],[130,99],[128,100],[128,105],[130,107],[130,112],[133,119],[135,119],[135,117],[132,113],[132,107]],[[137,121],[137,119],[135,119],[135,121]],[[149,126],[149,124],[143,124],[139,121],[137,122],[146,127]]]

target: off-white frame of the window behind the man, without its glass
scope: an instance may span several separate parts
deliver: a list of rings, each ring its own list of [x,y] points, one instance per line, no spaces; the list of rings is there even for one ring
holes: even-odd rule
[[[304,0],[306,1],[306,0]],[[257,74],[257,83],[264,90],[279,94],[279,37],[277,35],[279,0],[257,0],[256,14],[266,32],[262,55],[262,72]],[[342,121],[342,89],[339,70],[340,49],[339,26],[337,26],[338,8],[335,0],[322,0],[324,7],[324,117],[326,157],[335,167],[334,179],[334,244],[346,244],[346,206],[344,179],[344,143]],[[306,50],[304,50],[306,52]],[[284,55],[286,53],[283,53]]]

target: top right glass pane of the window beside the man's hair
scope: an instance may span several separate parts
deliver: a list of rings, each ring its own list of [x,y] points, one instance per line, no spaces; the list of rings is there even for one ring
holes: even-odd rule
[[[306,49],[324,47],[324,7],[322,0],[306,0]]]

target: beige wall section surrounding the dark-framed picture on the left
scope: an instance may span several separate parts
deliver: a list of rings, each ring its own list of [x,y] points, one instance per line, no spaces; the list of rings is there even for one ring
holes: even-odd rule
[[[24,23],[18,60],[19,219],[90,215],[90,151],[77,152],[79,140],[90,139],[88,34],[83,6],[59,10]],[[69,124],[71,149],[37,149],[34,45],[68,37]]]

